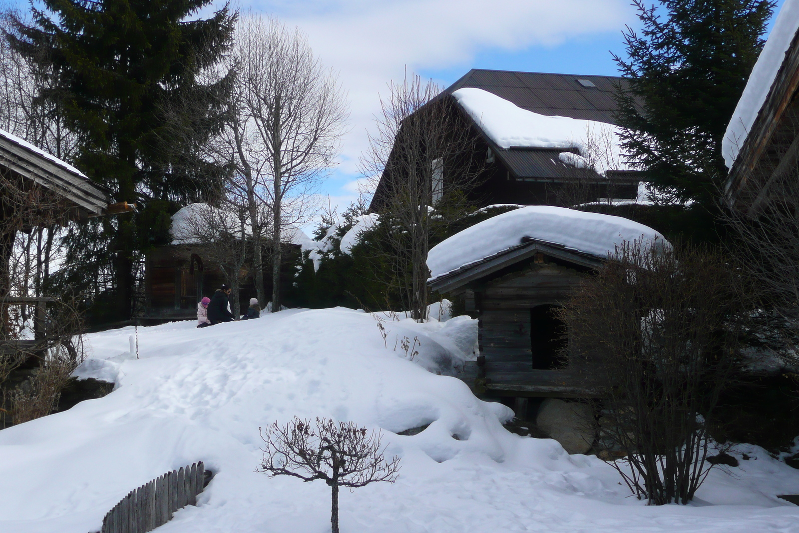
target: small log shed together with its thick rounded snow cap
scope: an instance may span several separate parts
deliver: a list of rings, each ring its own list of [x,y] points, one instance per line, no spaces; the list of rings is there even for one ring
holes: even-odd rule
[[[660,233],[626,218],[529,206],[436,245],[428,286],[463,298],[479,320],[479,357],[459,377],[494,396],[591,396],[585,376],[562,360],[566,331],[553,311],[617,245],[641,240],[666,245]]]

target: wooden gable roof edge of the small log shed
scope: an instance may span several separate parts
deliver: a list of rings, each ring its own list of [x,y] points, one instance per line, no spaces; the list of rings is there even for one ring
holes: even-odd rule
[[[524,237],[523,242],[519,245],[511,246],[511,248],[501,250],[491,256],[483,257],[479,261],[463,265],[442,276],[428,280],[427,285],[435,291],[448,292],[485,276],[490,276],[492,273],[514,265],[519,261],[529,259],[536,253],[546,253],[551,257],[587,268],[597,268],[602,265],[602,258],[590,253],[567,249],[557,243]]]

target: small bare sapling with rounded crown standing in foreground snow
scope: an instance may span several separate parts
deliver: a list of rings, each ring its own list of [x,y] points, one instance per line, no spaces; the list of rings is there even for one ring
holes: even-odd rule
[[[260,428],[259,428],[260,430]],[[261,431],[265,446],[258,471],[270,477],[292,475],[303,481],[323,479],[332,491],[330,523],[339,533],[339,487],[364,487],[373,481],[394,483],[400,458],[384,458],[382,434],[359,428],[354,422],[326,418],[294,419],[280,426],[276,422]]]

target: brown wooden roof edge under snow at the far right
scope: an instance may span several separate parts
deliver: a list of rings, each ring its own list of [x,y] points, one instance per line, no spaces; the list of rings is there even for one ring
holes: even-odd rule
[[[744,144],[738,151],[725,182],[726,200],[734,205],[738,195],[745,189],[746,181],[760,161],[773,134],[799,88],[799,30],[793,34],[785,58],[766,94],[763,105],[747,133]]]

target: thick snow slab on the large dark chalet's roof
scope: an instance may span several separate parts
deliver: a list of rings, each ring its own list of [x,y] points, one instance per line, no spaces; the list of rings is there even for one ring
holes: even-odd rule
[[[587,162],[602,175],[627,169],[617,126],[533,113],[483,89],[458,89],[452,96],[500,148],[576,148],[585,160],[582,165]],[[574,165],[573,160],[561,161]]]

